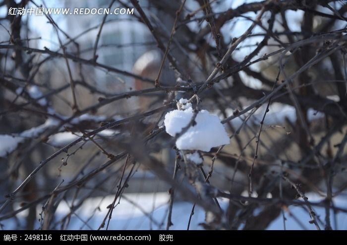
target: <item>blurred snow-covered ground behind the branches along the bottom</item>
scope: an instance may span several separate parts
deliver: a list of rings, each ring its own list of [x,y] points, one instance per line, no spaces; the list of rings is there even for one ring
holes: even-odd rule
[[[310,201],[322,200],[322,197],[316,195],[307,195]],[[93,197],[87,199],[83,205],[71,216],[71,220],[67,229],[69,230],[89,230],[98,229],[103,222],[105,215],[107,214],[107,206],[113,202],[114,196]],[[167,214],[168,214],[168,201],[169,195],[167,193],[156,194],[125,194],[120,203],[116,206],[113,212],[113,217],[110,222],[110,230],[164,230],[166,228]],[[221,199],[222,208],[226,208],[228,201]],[[347,196],[340,196],[334,199],[337,207],[347,206]],[[96,210],[100,207],[100,210]],[[173,226],[172,230],[186,230],[189,214],[191,212],[192,204],[182,201],[174,202],[173,205]],[[38,212],[41,211],[41,207],[38,206]],[[305,229],[315,230],[313,224],[309,224],[310,217],[308,213],[302,207],[290,206],[289,210],[302,222]],[[325,210],[324,208],[313,207],[313,210],[317,214],[320,220],[324,221]],[[56,212],[56,221],[59,221],[69,213],[68,204],[61,202]],[[25,212],[18,215],[19,220],[23,220]],[[286,229],[287,230],[302,230],[300,226],[292,217],[286,215]],[[331,214],[331,221],[333,229],[336,229],[335,224],[339,230],[347,229],[347,214],[338,213],[336,221],[334,215]],[[202,230],[199,223],[204,222],[204,211],[196,206],[194,215],[192,217],[190,229]],[[85,222],[88,221],[88,222]],[[14,220],[6,220],[1,222],[3,229],[21,229],[18,227]],[[37,224],[37,227],[39,225]],[[320,224],[320,227],[324,229],[324,225]],[[279,216],[275,219],[270,226],[269,230],[283,230],[283,218]]]

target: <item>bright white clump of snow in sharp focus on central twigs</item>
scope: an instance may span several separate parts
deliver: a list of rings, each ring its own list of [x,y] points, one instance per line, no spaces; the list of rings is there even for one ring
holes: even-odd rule
[[[175,136],[188,125],[192,117],[193,109],[191,107],[168,112],[164,119],[166,132]],[[176,147],[178,149],[210,151],[212,147],[230,143],[228,134],[218,116],[210,114],[207,110],[201,110],[198,112],[195,122],[195,126],[191,126],[177,139]]]

